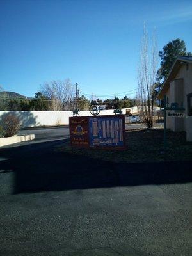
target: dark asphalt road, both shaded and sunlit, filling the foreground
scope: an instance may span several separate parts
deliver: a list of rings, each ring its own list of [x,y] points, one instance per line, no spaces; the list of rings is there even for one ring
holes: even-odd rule
[[[40,133],[0,150],[1,256],[191,255],[191,162],[108,163]]]

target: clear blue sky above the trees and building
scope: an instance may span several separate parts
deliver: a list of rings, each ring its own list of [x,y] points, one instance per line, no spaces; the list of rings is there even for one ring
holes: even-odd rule
[[[133,90],[143,22],[158,51],[178,37],[192,51],[192,1],[0,0],[0,84],[29,97],[65,78],[86,95]]]

